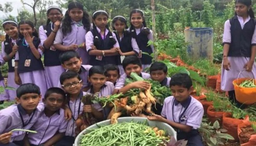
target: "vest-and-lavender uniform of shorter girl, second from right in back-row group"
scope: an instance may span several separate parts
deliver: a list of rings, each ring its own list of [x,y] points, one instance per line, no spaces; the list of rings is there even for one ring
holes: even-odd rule
[[[138,48],[136,39],[132,37],[130,32],[124,31],[122,37],[119,37],[119,35],[116,31],[114,31],[114,34],[116,34],[116,36],[117,36],[118,44],[123,53],[134,51],[136,55],[139,54],[139,48]],[[120,75],[124,74],[124,69],[123,69],[123,65],[122,65],[123,59],[124,59],[124,56],[119,55],[118,68],[120,70]]]

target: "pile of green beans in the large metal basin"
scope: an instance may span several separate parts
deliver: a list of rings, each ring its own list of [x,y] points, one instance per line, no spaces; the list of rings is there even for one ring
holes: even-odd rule
[[[118,123],[93,129],[81,137],[79,146],[157,146],[168,137],[157,136],[154,131],[145,132],[152,128],[145,124]]]

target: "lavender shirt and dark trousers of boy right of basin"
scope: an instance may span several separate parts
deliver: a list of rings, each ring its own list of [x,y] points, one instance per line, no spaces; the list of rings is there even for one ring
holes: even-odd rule
[[[184,102],[178,102],[173,96],[163,103],[161,115],[167,120],[193,127],[189,132],[177,131],[177,140],[188,140],[188,146],[203,146],[198,128],[202,123],[203,107],[194,97],[189,96]]]

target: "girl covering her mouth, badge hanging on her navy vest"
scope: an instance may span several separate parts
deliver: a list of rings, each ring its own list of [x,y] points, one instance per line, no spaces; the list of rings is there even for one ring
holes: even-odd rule
[[[39,35],[31,21],[19,22],[19,46],[15,57],[15,83],[33,83],[40,87],[42,97],[47,90],[44,66],[41,60]]]

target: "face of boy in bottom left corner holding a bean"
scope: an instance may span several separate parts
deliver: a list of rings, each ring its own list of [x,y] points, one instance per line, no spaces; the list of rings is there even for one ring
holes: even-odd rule
[[[34,111],[41,100],[41,95],[35,93],[24,94],[20,98],[16,98],[21,107],[28,113]]]

